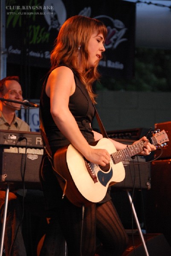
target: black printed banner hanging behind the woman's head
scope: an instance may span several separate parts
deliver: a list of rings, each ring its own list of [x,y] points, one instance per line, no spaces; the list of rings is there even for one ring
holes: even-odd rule
[[[17,4],[16,4],[17,2]],[[67,18],[84,15],[108,29],[99,70],[114,78],[134,73],[135,3],[123,0],[6,0],[7,62],[50,67],[50,52]]]

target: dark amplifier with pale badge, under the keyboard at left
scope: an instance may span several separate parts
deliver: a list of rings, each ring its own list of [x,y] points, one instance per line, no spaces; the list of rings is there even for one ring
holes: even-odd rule
[[[28,149],[29,150],[29,149]],[[26,157],[26,158],[25,158]],[[10,183],[12,188],[41,189],[39,180],[39,167],[42,154],[35,154],[31,151],[27,154],[6,152],[0,150],[0,187],[4,188],[6,183]]]

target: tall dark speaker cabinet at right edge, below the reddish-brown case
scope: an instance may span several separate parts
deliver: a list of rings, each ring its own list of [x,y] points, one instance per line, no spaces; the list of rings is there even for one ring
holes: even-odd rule
[[[147,233],[163,233],[171,245],[171,160],[151,165],[151,189],[147,191]],[[163,254],[164,255],[164,254]]]

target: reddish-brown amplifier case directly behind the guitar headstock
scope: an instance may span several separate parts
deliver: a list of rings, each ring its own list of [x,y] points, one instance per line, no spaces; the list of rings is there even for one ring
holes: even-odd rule
[[[171,122],[156,123],[155,129],[159,129],[160,131],[165,130],[165,132],[168,134],[168,139],[170,140],[167,142],[167,146],[162,148],[162,155],[159,157],[159,159],[171,158]],[[154,154],[154,157],[156,158],[161,154],[161,151],[156,150]]]

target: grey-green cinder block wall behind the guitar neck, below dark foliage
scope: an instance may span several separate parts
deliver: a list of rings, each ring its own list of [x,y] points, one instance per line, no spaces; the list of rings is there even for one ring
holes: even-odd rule
[[[97,91],[96,108],[106,131],[150,128],[171,121],[171,93]],[[97,121],[93,128],[99,128]]]

